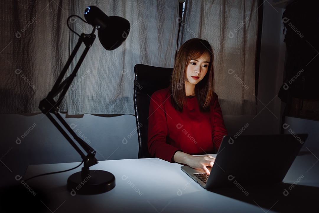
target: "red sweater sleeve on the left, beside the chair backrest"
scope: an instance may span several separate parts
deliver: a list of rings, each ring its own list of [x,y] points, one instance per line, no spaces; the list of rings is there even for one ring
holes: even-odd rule
[[[168,130],[165,101],[169,99],[163,96],[163,93],[155,92],[151,97],[148,118],[148,151],[152,156],[172,162],[175,152],[182,150],[166,142]],[[168,119],[171,118],[168,117]]]

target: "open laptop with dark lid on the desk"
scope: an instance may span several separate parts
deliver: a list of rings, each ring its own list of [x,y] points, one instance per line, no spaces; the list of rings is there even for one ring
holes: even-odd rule
[[[226,135],[209,176],[202,169],[181,169],[207,190],[278,183],[307,137],[308,134]]]

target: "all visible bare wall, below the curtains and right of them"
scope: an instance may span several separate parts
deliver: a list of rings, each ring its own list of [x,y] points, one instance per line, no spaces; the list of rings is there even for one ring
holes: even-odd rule
[[[229,134],[238,133],[245,124],[249,126],[243,134],[279,133],[281,101],[276,95],[283,79],[285,57],[282,12],[280,8],[264,4],[257,115],[224,116]],[[69,125],[77,125],[74,130],[81,132],[80,137],[90,141],[97,151],[97,159],[137,158],[135,116],[101,117],[86,114],[82,118],[66,118],[66,121]],[[1,114],[0,125],[0,171],[3,180],[0,186],[15,184],[14,177],[23,175],[29,164],[81,161],[78,153],[43,114]],[[128,136],[130,134],[131,137]]]

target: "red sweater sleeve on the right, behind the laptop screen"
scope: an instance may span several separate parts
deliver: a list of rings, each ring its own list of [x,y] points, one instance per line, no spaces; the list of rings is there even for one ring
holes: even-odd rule
[[[219,105],[217,94],[214,95],[212,104],[212,117],[213,125],[211,129],[211,139],[213,141],[214,147],[218,150],[223,140],[223,137],[227,135],[226,126],[223,119],[223,114]]]

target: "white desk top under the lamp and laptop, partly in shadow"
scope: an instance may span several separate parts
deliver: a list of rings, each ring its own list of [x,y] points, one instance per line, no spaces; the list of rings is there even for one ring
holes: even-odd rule
[[[237,187],[210,192],[194,182],[181,169],[158,158],[100,161],[91,167],[114,174],[116,186],[97,195],[72,196],[66,190],[68,177],[76,170],[31,179],[48,200],[39,201],[46,212],[317,212],[319,211],[319,151],[305,147],[280,186]],[[78,163],[30,165],[23,179],[37,174],[61,171]],[[300,177],[303,176],[301,179]],[[299,178],[299,179],[298,179]],[[22,180],[22,179],[21,179]],[[19,180],[19,181],[21,181]],[[298,184],[289,190],[294,181]],[[284,196],[284,189],[289,194]],[[259,207],[260,206],[260,207]]]

